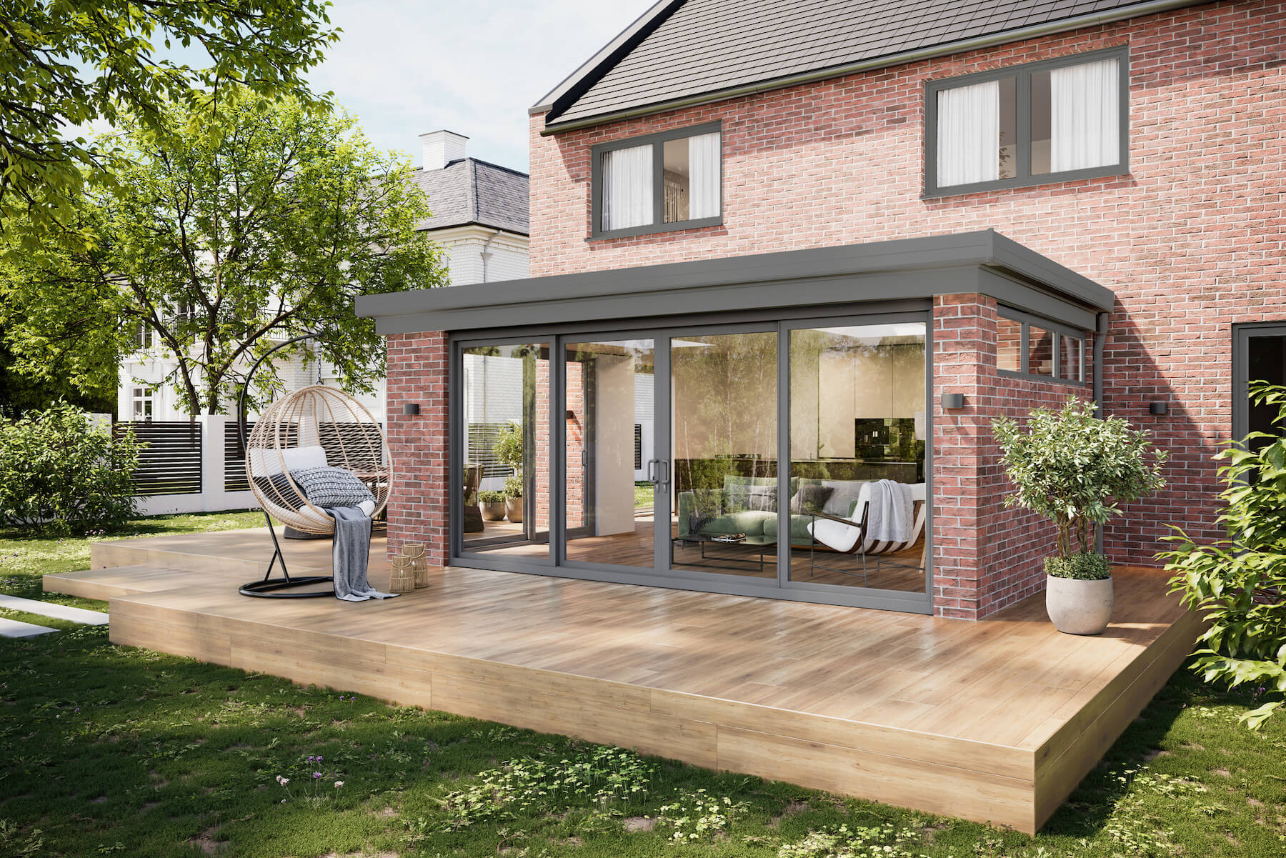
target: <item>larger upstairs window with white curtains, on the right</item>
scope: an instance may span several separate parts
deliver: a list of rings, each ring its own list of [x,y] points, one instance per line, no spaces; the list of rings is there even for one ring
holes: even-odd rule
[[[1128,95],[1124,49],[930,82],[925,194],[1125,172]]]

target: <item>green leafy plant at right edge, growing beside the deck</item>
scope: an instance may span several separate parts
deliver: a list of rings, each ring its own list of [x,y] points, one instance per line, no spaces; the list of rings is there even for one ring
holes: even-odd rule
[[[1250,397],[1276,405],[1273,422],[1286,431],[1286,387],[1254,382]],[[1210,624],[1197,639],[1196,670],[1272,697],[1241,717],[1256,729],[1286,705],[1286,436],[1253,432],[1215,459],[1224,462],[1218,521],[1227,538],[1197,545],[1172,525],[1175,548],[1157,558],[1174,574],[1170,590]]]

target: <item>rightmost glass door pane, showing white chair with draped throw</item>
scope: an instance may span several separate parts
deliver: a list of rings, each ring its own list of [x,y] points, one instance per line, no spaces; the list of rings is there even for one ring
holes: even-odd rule
[[[925,324],[788,337],[790,580],[925,593]]]

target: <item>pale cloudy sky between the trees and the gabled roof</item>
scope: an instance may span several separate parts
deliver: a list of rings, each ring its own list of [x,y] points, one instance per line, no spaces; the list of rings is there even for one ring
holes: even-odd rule
[[[527,108],[653,0],[334,0],[343,30],[309,75],[381,149],[421,162],[448,129],[468,154],[527,170]]]

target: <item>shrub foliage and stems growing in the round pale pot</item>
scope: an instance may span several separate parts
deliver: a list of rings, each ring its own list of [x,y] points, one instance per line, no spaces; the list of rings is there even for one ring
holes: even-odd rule
[[[1106,558],[1071,558],[1093,553],[1098,529],[1121,515],[1120,504],[1165,485],[1161,468],[1168,454],[1152,448],[1146,430],[1120,417],[1097,418],[1093,404],[1075,396],[1060,412],[1038,408],[1025,424],[1002,417],[992,427],[1015,486],[1004,506],[1038,512],[1058,529],[1058,558],[1067,562],[1053,569],[1078,572],[1067,578],[1106,571]]]

